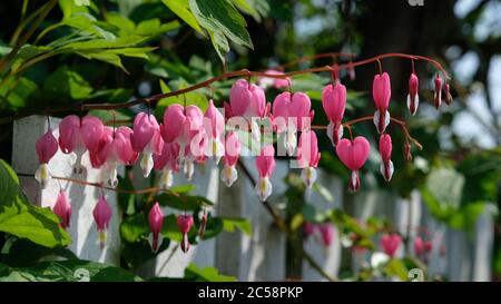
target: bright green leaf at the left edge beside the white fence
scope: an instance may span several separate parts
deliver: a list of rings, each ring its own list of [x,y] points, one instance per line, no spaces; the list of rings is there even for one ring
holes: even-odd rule
[[[59,218],[49,209],[33,206],[19,185],[12,168],[0,159],[0,232],[46,246],[66,246],[71,238],[59,226]]]

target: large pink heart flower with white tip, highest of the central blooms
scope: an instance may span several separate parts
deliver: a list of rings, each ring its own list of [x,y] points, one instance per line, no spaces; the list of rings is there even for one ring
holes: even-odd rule
[[[266,104],[263,88],[239,79],[233,84],[229,90],[229,105],[224,102],[225,115],[229,117],[243,117],[250,125],[250,131],[255,140],[261,139],[257,120],[268,115],[271,105]]]

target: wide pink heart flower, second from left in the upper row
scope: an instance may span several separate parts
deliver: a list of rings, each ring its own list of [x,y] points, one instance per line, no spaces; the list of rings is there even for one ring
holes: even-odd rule
[[[85,116],[80,118],[76,115],[65,117],[59,124],[59,147],[62,153],[70,154],[75,151],[77,161],[75,173],[81,174],[81,156],[86,150],[90,153],[96,150],[100,138],[105,134],[105,126],[99,118]]]

